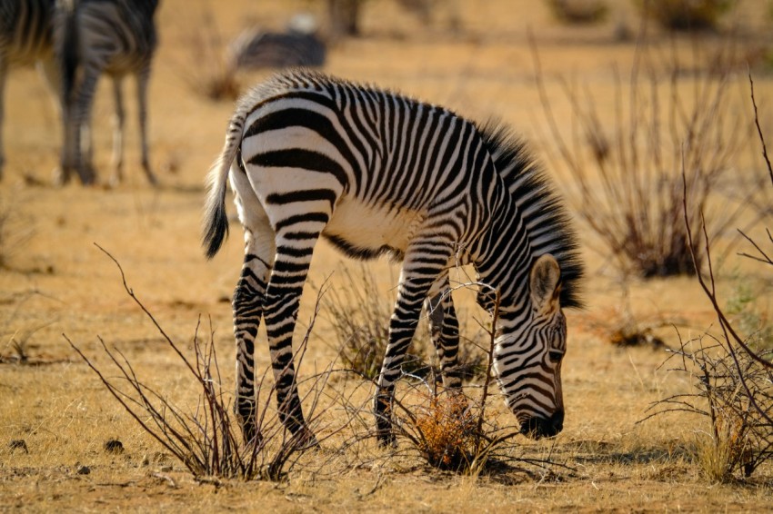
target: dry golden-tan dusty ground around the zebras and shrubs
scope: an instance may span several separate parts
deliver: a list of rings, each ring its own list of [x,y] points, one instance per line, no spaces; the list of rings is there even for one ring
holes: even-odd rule
[[[162,44],[150,90],[152,162],[162,183],[157,190],[146,184],[137,166],[133,102],[126,183],[112,190],[75,184],[50,187],[59,141],[55,110],[34,71],[12,74],[5,93],[7,164],[0,183],[0,209],[10,229],[10,239],[0,248],[6,261],[0,269],[0,510],[770,509],[769,466],[758,470],[754,479],[732,485],[711,483],[699,475],[686,449],[707,430],[702,420],[672,416],[637,424],[652,401],[689,385],[668,367],[658,368],[666,355],[663,349],[609,345],[605,334],[619,319],[622,289],[601,247],[582,226],[589,271],[587,310],[568,313],[565,430],[551,442],[520,440],[529,455],[552,455],[571,470],[559,469],[542,479],[518,470],[470,479],[421,466],[400,469],[381,460],[383,464],[369,468],[347,468],[339,462],[316,472],[300,469],[282,483],[212,484],[194,480],[178,462],[159,456],[156,442],[105,392],[63,336],[97,365],[106,366],[97,346],[99,336],[124,352],[136,370],[170,398],[183,404],[196,400],[182,364],[127,296],[115,264],[95,243],[121,263],[129,286],[187,351],[199,316],[211,319],[218,360],[229,383],[233,344],[228,299],[241,262],[241,234],[237,224],[232,225],[225,249],[206,262],[199,248],[199,222],[204,177],[220,150],[232,104],[211,103],[191,92],[183,74],[191,73],[196,58],[200,68],[206,62],[192,55],[186,44],[192,32],[202,30],[201,13],[207,5],[211,12],[219,9],[217,26],[230,36],[255,21],[281,27],[293,9],[319,4],[239,1],[226,8],[215,2],[163,3],[158,15]],[[452,35],[446,29],[447,6],[438,10],[434,25],[422,29],[392,3],[369,2],[364,36],[337,44],[325,69],[446,104],[471,118],[496,115],[526,134],[537,154],[549,160],[556,147],[538,100],[528,32],[537,40],[557,113],[567,121],[557,74],[589,84],[600,112],[611,114],[612,66],[629,69],[635,47],[630,40],[617,39],[616,28],[627,25],[635,31],[638,22],[628,2],[611,2],[615,8],[605,24],[568,28],[553,21],[543,4],[460,1],[461,29]],[[760,27],[767,23],[769,34],[773,23],[755,5],[742,2],[734,18],[746,27],[746,41],[752,42]],[[698,44],[704,52],[698,61],[709,58],[714,43],[708,37]],[[239,79],[250,84],[267,73]],[[773,80],[769,71],[755,68],[755,73],[762,122],[773,133]],[[738,84],[742,90],[743,80]],[[112,106],[105,86],[95,107],[95,156],[106,183]],[[133,84],[129,89],[133,91]],[[740,111],[748,109],[744,100],[748,98],[741,96]],[[738,159],[744,163],[739,164],[743,173],[756,173],[747,163],[754,159]],[[340,262],[341,257],[323,245],[312,280],[319,283],[340,271]],[[388,290],[389,277],[397,273],[390,274],[384,263],[374,269]],[[746,265],[730,263],[728,269],[742,270],[735,271],[741,280],[765,280]],[[342,287],[337,277],[340,273],[334,275],[333,286]],[[737,283],[733,280],[738,281],[721,282],[722,291],[732,291]],[[713,321],[708,302],[690,279],[633,281],[628,287],[631,311],[642,321],[675,323],[685,338],[705,331]],[[301,320],[308,319],[312,301],[313,294],[306,299]],[[482,318],[469,304],[465,312]],[[324,321],[315,334],[304,363],[307,369],[324,367],[335,356]],[[678,344],[674,329],[658,334],[668,345]],[[25,341],[28,363],[14,360],[12,341]],[[261,350],[256,358],[265,365],[267,352]],[[123,441],[123,455],[105,453],[103,443],[110,438]],[[28,452],[10,449],[11,440],[25,440]],[[91,472],[78,474],[84,465]]]

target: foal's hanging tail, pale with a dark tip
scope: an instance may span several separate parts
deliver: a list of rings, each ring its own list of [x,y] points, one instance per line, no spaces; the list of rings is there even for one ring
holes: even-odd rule
[[[231,119],[226,135],[223,152],[212,165],[207,176],[206,206],[204,211],[204,232],[202,244],[207,259],[212,259],[220,250],[228,235],[228,218],[226,216],[226,182],[231,165],[239,153],[242,140],[242,129],[245,116],[241,110]]]

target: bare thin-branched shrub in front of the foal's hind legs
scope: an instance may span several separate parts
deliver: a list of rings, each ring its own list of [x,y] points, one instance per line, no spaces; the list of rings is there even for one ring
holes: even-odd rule
[[[102,251],[105,252],[105,250]],[[111,350],[102,338],[98,338],[102,350],[120,373],[117,380],[107,378],[105,373],[96,367],[95,361],[89,359],[65,335],[66,341],[140,427],[180,460],[194,476],[246,480],[282,479],[307,447],[305,440],[290,435],[286,431],[276,410],[271,409],[270,405],[274,402],[274,387],[269,387],[265,383],[268,370],[264,371],[263,377],[257,383],[257,389],[261,393],[268,390],[263,398],[262,410],[256,414],[258,435],[256,440],[241,440],[241,429],[231,414],[231,395],[223,389],[216,359],[214,334],[210,331],[208,339],[202,341],[199,339],[197,325],[193,340],[194,354],[192,359],[187,357],[128,287],[121,265],[112,255],[105,253],[118,266],[125,292],[145,312],[147,318],[156,326],[162,338],[193,376],[199,390],[196,410],[187,412],[177,407],[163,391],[156,391],[147,386],[138,377],[125,356],[120,351]],[[308,336],[315,320],[316,311],[309,323],[306,337],[298,347],[296,354],[298,361],[303,359]],[[306,384],[309,385],[310,392],[303,400],[311,403],[308,416],[310,428],[318,428],[320,416],[324,414],[324,410],[320,411],[317,407],[329,372],[327,370],[316,374],[308,380],[310,385]],[[260,400],[258,398],[259,404]]]

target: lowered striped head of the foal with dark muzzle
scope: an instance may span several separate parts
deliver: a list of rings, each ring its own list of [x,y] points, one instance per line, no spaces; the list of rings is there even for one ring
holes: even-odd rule
[[[520,431],[533,439],[555,436],[564,425],[561,361],[566,352],[567,321],[560,305],[561,269],[549,254],[529,272],[527,305],[497,327],[495,370],[507,406]]]

